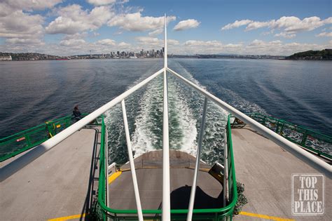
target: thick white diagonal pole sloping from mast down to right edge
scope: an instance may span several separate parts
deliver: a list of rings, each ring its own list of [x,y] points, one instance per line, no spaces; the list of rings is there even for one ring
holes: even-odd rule
[[[283,138],[281,135],[275,133],[269,128],[266,128],[261,123],[258,123],[254,119],[251,119],[251,117],[228,105],[226,102],[223,102],[219,98],[216,98],[216,96],[195,85],[195,83],[188,81],[180,74],[177,74],[177,72],[174,72],[172,69],[167,67],[167,71],[174,74],[174,76],[177,76],[189,86],[195,88],[196,91],[199,91],[202,95],[205,95],[207,98],[209,98],[209,100],[212,100],[214,103],[216,103],[216,105],[219,105],[223,109],[226,109],[227,112],[230,112],[231,114],[233,114],[233,116],[237,117],[241,121],[244,121],[244,123],[247,123],[249,126],[254,128],[254,130],[257,130],[259,133],[265,135],[267,138],[275,142],[280,147],[284,147],[284,149],[296,156],[298,159],[321,171],[321,173],[324,173],[328,178],[332,178],[332,166],[325,161],[319,159],[317,156],[310,154],[309,152],[306,152],[301,147],[298,147],[298,145],[290,142],[289,140],[286,140],[286,138]]]

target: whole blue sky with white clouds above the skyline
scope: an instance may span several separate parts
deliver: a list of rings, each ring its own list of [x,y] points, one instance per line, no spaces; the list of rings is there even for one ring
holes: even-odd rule
[[[291,55],[332,48],[332,0],[0,0],[0,51]]]

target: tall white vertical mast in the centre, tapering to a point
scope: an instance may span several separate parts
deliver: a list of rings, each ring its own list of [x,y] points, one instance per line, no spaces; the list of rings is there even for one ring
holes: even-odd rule
[[[167,97],[167,29],[164,18],[164,96],[162,109],[162,220],[171,220],[170,196],[170,140],[168,135],[168,97]]]

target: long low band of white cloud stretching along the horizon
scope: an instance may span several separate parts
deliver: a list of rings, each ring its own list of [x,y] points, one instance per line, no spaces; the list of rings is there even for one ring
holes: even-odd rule
[[[90,50],[92,53],[110,53],[111,51],[134,51],[138,52],[141,48],[144,50],[155,49],[158,50],[162,47],[162,40],[153,39],[152,41],[160,42],[160,45],[151,46],[150,44],[144,45],[144,42],[149,43],[149,39],[140,39],[142,42],[139,44],[129,44],[121,42],[115,46],[105,46],[98,43],[88,43],[83,39],[71,39],[62,41],[62,45],[55,43],[48,43],[46,46],[41,44],[11,44],[6,43],[0,45],[0,51],[13,51],[13,52],[38,52],[53,55],[78,55],[88,54]],[[173,40],[173,39],[172,39]],[[14,41],[14,40],[13,40]],[[170,42],[170,41],[169,41]],[[299,51],[321,50],[324,48],[331,48],[332,41],[324,44],[316,43],[284,43],[282,41],[261,41],[254,40],[249,43],[223,43],[221,41],[199,41],[189,40],[184,43],[174,42],[169,43],[168,53],[173,54],[217,54],[217,53],[234,53],[243,55],[291,55]],[[143,47],[142,47],[143,46]]]

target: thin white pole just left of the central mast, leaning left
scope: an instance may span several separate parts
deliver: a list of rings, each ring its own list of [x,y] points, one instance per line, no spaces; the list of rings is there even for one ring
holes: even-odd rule
[[[125,126],[125,140],[127,140],[130,171],[132,172],[132,184],[134,185],[137,213],[138,213],[139,221],[143,221],[143,213],[141,211],[141,198],[139,198],[139,189],[138,189],[138,185],[137,185],[134,157],[132,156],[132,142],[130,142],[130,133],[129,133],[129,128],[128,128],[127,112],[125,111],[125,100],[121,101],[121,107],[122,107],[122,113],[123,113],[123,124]]]

